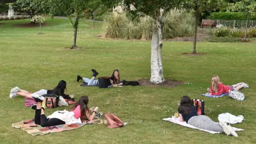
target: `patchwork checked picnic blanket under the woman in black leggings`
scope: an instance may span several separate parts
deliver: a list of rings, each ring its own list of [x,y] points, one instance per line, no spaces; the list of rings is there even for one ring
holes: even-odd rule
[[[107,123],[107,121],[105,119],[102,120],[100,118],[94,119],[93,123],[102,124],[103,121],[104,121],[104,123]],[[88,121],[83,121],[82,123],[62,124],[62,125],[56,125],[56,126],[42,127],[40,125],[35,124],[34,119],[29,119],[27,121],[21,121],[18,123],[14,123],[14,124],[12,124],[12,127],[21,129],[23,131],[26,131],[28,134],[35,136],[35,135],[44,135],[47,133],[55,133],[55,132],[74,130],[74,129],[78,129],[79,127],[81,127],[83,125],[93,124],[93,123],[89,123]]]

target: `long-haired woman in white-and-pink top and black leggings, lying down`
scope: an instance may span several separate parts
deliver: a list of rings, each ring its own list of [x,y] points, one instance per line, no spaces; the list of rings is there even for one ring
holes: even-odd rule
[[[94,115],[98,111],[98,107],[94,108],[94,110],[89,110],[87,107],[89,98],[87,96],[82,96],[70,111],[55,111],[52,115],[46,117],[44,114],[44,107],[42,107],[44,97],[33,95],[33,98],[37,102],[37,105],[31,106],[32,109],[36,110],[35,124],[43,127],[81,123],[81,120],[89,120],[92,122]],[[92,115],[90,115],[90,111],[92,111]]]

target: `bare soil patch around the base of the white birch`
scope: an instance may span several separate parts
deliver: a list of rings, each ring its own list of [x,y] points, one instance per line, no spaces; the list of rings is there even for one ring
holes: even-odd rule
[[[138,82],[140,83],[140,85],[150,86],[150,87],[159,87],[159,86],[160,87],[175,87],[175,86],[184,84],[183,82],[175,81],[172,79],[165,79],[164,83],[162,83],[162,84],[152,84],[150,82],[150,79],[139,79]]]

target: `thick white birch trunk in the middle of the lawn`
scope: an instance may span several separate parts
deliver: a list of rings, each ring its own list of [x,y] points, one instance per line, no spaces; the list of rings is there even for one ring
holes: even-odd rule
[[[162,66],[162,24],[155,21],[156,27],[153,28],[151,39],[151,83],[161,84],[165,81]]]

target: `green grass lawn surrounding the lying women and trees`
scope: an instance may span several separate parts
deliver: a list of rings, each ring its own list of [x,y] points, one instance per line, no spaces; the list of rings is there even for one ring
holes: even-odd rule
[[[79,24],[77,46],[84,49],[70,50],[73,29],[69,20],[50,18],[39,28],[18,28],[17,23],[29,20],[1,21],[0,61],[0,143],[255,143],[255,71],[256,43],[198,43],[201,56],[186,56],[191,52],[190,42],[164,42],[163,67],[166,79],[185,82],[174,88],[125,86],[111,89],[81,87],[77,74],[91,77],[91,68],[99,76],[109,76],[114,69],[120,70],[121,79],[134,81],[150,78],[149,41],[122,41],[97,37],[99,28],[90,29],[92,22]],[[250,88],[242,90],[245,101],[227,97],[201,97],[210,86],[211,76],[219,75],[226,85],[246,82]],[[105,125],[85,125],[73,131],[33,137],[15,129],[12,123],[34,117],[34,110],[25,107],[22,97],[9,98],[10,89],[19,86],[31,92],[53,89],[61,80],[67,82],[67,94],[89,96],[89,107],[116,114],[127,126],[108,129]],[[246,119],[233,126],[245,129],[237,132],[238,138],[225,134],[210,134],[165,122],[178,109],[183,95],[205,101],[206,115],[218,120],[218,114],[243,115]],[[46,109],[46,115],[58,107]],[[140,123],[143,120],[143,123]]]

